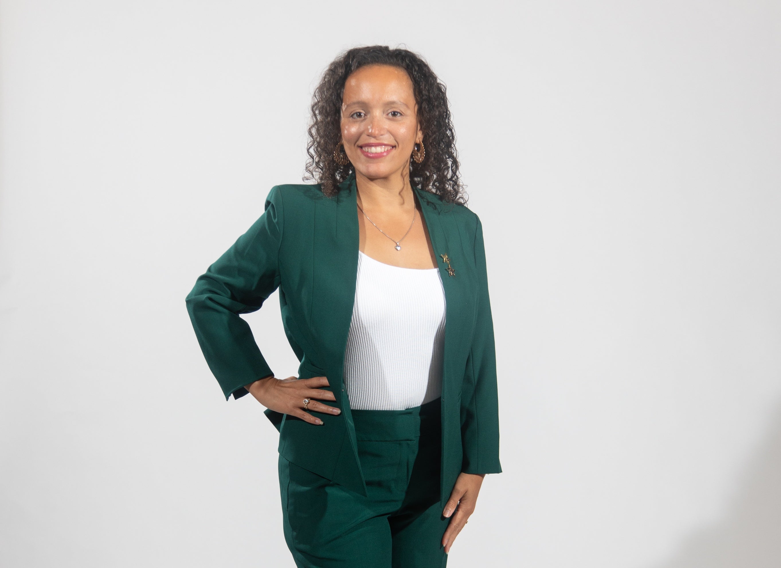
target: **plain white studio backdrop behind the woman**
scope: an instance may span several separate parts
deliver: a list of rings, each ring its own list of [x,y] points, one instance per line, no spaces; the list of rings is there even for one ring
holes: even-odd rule
[[[448,84],[485,230],[505,471],[449,566],[778,566],[771,0],[0,2],[0,565],[294,566],[184,296],[377,43]]]

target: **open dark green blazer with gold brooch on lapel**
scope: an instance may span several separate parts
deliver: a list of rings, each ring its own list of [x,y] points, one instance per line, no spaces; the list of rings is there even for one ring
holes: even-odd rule
[[[462,205],[414,191],[437,254],[446,302],[444,505],[460,472],[501,472],[494,328],[480,219]],[[342,382],[358,272],[356,194],[354,175],[341,183],[336,197],[324,196],[319,185],[274,186],[263,215],[198,277],[187,295],[187,311],[226,399],[238,398],[247,394],[244,385],[273,375],[240,314],[258,310],[279,288],[284,330],[301,362],[299,378],[327,377],[333,406],[341,409],[338,416],[314,413],[320,425],[266,410],[280,431],[280,454],[366,495]]]

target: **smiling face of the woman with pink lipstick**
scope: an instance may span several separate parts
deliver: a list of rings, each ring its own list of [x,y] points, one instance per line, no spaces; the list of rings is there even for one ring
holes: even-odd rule
[[[341,110],[344,152],[369,179],[408,172],[415,143],[423,140],[412,80],[404,69],[361,67],[344,83]]]

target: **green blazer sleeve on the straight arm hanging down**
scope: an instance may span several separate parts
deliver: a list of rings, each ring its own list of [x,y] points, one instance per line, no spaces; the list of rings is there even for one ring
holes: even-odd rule
[[[462,471],[501,473],[499,463],[499,408],[494,348],[494,321],[490,313],[483,225],[477,219],[475,265],[479,275],[475,332],[461,397]]]

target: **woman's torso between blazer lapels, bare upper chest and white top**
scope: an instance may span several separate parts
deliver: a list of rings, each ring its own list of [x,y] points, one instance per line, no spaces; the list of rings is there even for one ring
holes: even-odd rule
[[[354,410],[405,410],[441,393],[440,271],[411,187],[394,194],[359,186],[357,201],[360,253],[344,385]]]

